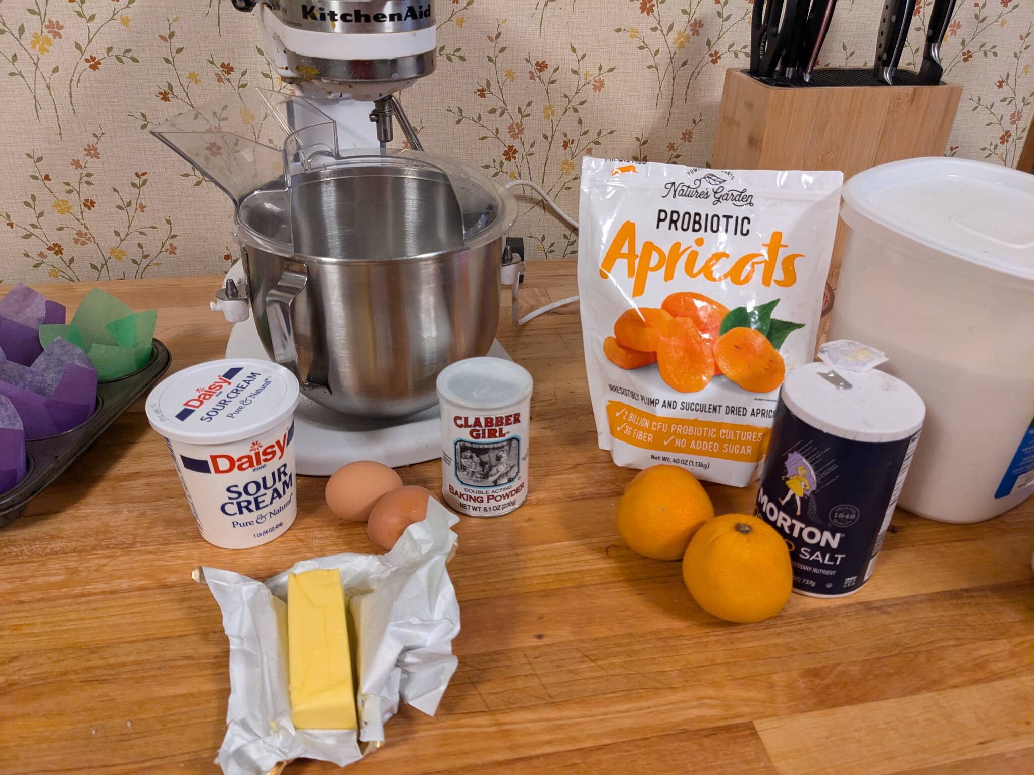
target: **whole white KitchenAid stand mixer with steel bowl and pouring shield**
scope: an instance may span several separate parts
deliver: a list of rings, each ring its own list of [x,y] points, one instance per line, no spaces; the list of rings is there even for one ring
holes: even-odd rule
[[[242,259],[213,303],[237,323],[226,355],[299,377],[300,473],[435,458],[434,379],[463,358],[506,357],[499,282],[519,256],[505,249],[513,195],[420,153],[395,97],[434,69],[432,4],[234,5],[255,11],[295,93],[249,89],[153,132],[235,204]],[[413,150],[387,148],[396,120]]]

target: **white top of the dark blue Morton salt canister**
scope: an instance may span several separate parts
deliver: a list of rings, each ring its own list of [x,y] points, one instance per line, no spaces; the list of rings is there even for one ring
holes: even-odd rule
[[[884,371],[857,372],[821,363],[791,371],[780,398],[820,431],[854,441],[895,441],[922,428],[919,394]]]

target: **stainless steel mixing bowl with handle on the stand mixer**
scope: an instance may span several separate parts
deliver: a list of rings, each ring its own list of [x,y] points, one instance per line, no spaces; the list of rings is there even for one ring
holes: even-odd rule
[[[435,403],[449,364],[488,352],[513,196],[427,154],[331,159],[241,198],[252,316],[305,396],[399,417]]]

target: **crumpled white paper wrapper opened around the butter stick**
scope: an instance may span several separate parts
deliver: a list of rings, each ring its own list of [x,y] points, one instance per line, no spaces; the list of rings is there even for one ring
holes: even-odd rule
[[[433,498],[391,552],[295,563],[265,584],[203,567],[230,639],[230,702],[218,764],[225,775],[266,775],[293,758],[344,767],[385,742],[402,702],[434,715],[456,671],[459,602],[446,569],[459,518]],[[338,568],[356,626],[360,729],[296,730],[287,691],[287,575]],[[196,572],[196,571],[195,571]]]

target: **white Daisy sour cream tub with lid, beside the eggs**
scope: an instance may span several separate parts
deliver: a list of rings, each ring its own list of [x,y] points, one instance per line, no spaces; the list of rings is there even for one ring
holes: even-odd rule
[[[295,521],[298,379],[269,361],[226,359],[177,372],[147,399],[202,536],[223,549],[273,540]]]

